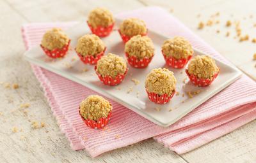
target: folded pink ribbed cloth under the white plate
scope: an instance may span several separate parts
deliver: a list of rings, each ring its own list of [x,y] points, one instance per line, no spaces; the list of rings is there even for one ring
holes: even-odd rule
[[[138,17],[145,20],[149,29],[161,31],[170,37],[184,36],[195,48],[230,64],[179,20],[161,8],[143,8],[116,16]],[[22,36],[26,48],[38,45],[47,29],[67,29],[74,24],[76,22],[24,25]],[[243,75],[170,127],[159,127],[110,100],[114,108],[110,123],[102,130],[91,129],[86,127],[79,117],[78,106],[84,97],[97,93],[41,67],[32,68],[44,88],[45,97],[60,124],[61,131],[67,136],[72,148],[85,148],[92,157],[152,137],[177,153],[185,153],[256,118],[256,83]]]

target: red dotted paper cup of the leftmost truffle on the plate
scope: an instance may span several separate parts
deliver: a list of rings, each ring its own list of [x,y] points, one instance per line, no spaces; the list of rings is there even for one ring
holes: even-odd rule
[[[45,48],[44,46],[40,45],[42,50],[44,50],[45,54],[48,55],[51,58],[61,58],[64,57],[64,55],[66,55],[66,53],[68,52],[68,47],[70,45],[70,40],[68,41],[68,44],[63,46],[63,48],[59,49],[59,48],[54,48],[53,50],[48,50],[47,48]]]

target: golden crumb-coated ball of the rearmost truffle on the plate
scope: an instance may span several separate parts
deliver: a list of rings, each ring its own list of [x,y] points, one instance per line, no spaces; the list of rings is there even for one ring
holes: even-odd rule
[[[93,28],[108,27],[115,22],[112,13],[106,8],[95,8],[89,13],[88,24]]]

